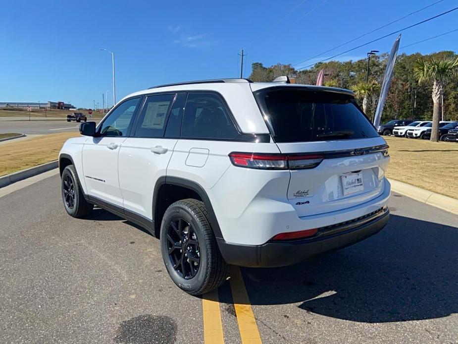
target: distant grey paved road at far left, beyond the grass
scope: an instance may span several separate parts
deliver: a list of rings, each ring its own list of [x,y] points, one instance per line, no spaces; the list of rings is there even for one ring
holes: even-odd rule
[[[91,120],[88,118],[88,120]],[[99,122],[100,119],[95,119]],[[66,119],[0,117],[0,133],[19,132],[24,134],[55,134],[65,131],[77,131],[80,123],[67,122]]]

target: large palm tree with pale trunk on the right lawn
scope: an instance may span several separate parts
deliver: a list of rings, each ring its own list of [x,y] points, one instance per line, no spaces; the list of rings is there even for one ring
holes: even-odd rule
[[[431,141],[439,141],[439,115],[441,98],[445,83],[458,74],[458,58],[453,59],[432,59],[420,58],[413,65],[413,75],[418,83],[433,82],[433,126],[431,128]]]

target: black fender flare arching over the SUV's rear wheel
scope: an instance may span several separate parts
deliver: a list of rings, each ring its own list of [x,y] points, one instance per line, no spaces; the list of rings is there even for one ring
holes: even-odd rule
[[[205,189],[197,182],[185,178],[174,177],[174,176],[162,176],[156,180],[156,184],[154,185],[153,191],[153,221],[156,217],[156,208],[157,208],[157,194],[159,189],[162,185],[176,185],[188,188],[194,192],[196,192],[199,197],[204,202],[205,208],[208,212],[208,217],[210,220],[211,229],[213,229],[213,233],[215,234],[216,239],[223,239],[223,235],[221,233],[221,229],[219,228],[218,220],[216,219],[216,215],[213,211],[213,207],[211,206],[210,199],[205,191]],[[158,224],[160,226],[160,224]]]

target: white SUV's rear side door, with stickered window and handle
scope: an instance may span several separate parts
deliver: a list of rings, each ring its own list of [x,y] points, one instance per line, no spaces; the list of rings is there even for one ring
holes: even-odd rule
[[[153,219],[153,190],[165,176],[180,135],[186,93],[150,95],[138,115],[134,134],[119,152],[119,186],[124,208]]]

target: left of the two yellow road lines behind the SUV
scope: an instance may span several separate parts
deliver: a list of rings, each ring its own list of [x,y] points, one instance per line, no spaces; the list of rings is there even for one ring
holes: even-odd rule
[[[224,344],[217,289],[202,295],[202,308],[204,310],[204,343]]]

